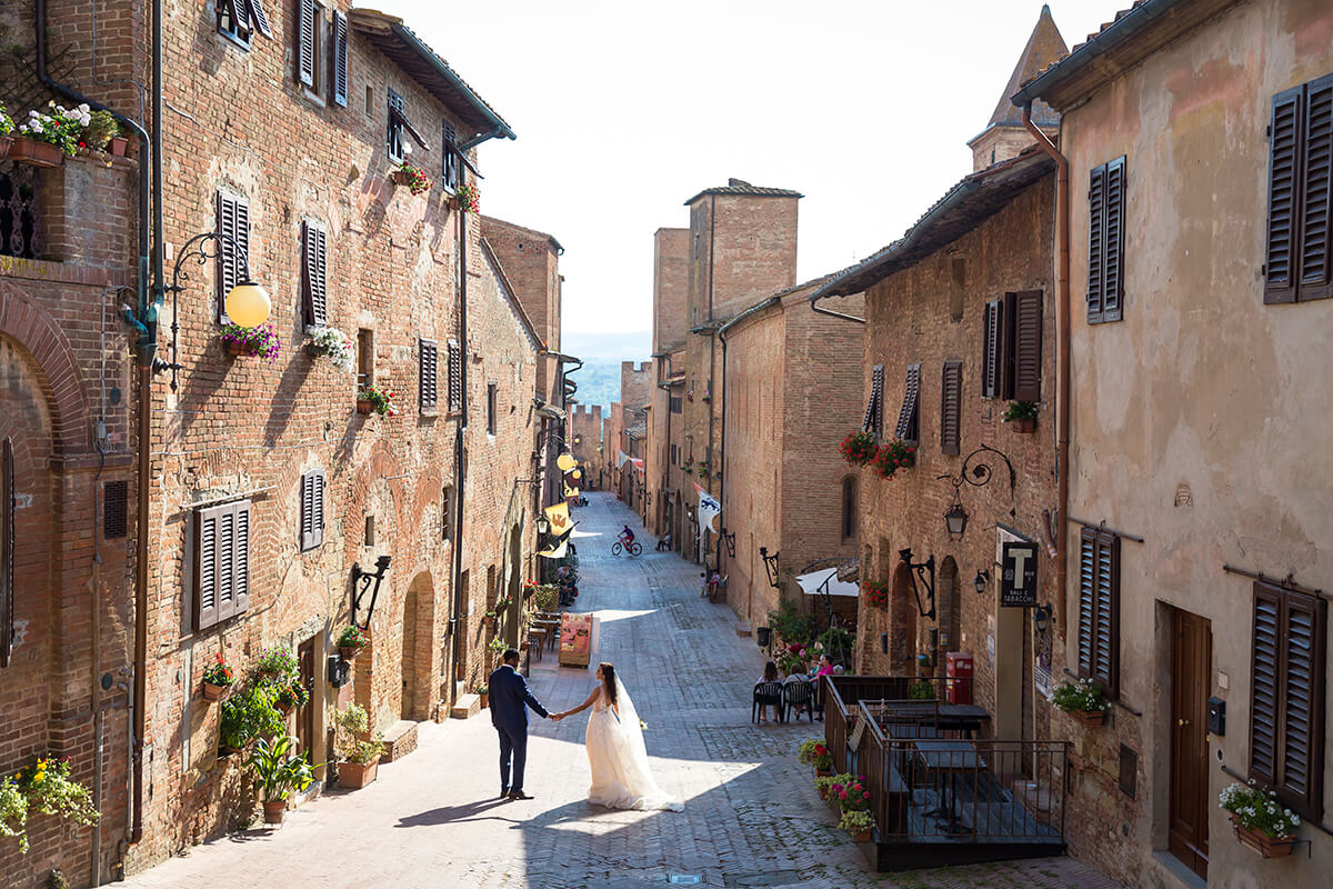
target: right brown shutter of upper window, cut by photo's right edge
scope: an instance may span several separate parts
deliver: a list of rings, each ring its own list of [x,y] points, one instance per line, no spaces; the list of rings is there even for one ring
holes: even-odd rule
[[[1333,75],[1305,89],[1305,145],[1301,152],[1300,300],[1333,296]]]

